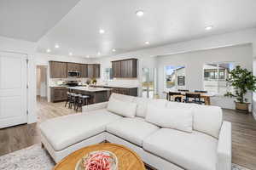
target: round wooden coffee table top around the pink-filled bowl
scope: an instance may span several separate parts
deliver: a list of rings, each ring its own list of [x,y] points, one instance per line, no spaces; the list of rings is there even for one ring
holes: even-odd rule
[[[108,150],[113,152],[119,160],[118,170],[145,170],[143,161],[137,153],[130,150],[129,148],[120,144],[94,144],[88,147],[76,150],[69,156],[61,160],[55,167],[54,170],[74,170],[77,162],[86,154],[96,150]]]

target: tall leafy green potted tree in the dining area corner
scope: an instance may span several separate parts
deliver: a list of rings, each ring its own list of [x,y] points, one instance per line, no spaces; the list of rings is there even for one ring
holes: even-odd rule
[[[235,94],[228,92],[224,96],[235,97],[236,110],[247,111],[248,105],[247,99],[244,97],[247,91],[256,90],[256,77],[253,76],[252,71],[247,71],[247,69],[242,69],[240,65],[230,71],[230,77],[227,82],[235,89]]]

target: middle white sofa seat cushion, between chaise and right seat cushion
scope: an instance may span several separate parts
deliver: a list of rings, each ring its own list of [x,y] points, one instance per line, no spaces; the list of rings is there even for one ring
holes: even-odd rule
[[[123,118],[107,125],[107,132],[142,146],[143,139],[154,133],[159,127],[145,122],[143,118]]]

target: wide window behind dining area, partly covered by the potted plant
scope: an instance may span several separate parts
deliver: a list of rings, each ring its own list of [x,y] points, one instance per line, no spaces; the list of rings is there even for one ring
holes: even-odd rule
[[[232,62],[204,65],[204,90],[219,95],[232,91],[232,87],[229,87],[226,79],[230,77],[230,71],[233,69],[234,63]]]

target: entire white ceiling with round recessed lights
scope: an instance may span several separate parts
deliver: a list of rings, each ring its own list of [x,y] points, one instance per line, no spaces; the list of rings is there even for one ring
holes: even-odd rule
[[[38,8],[24,6],[24,1],[29,4],[37,2]],[[8,2],[17,1],[0,2],[1,21],[2,10],[6,14],[8,10],[10,12]],[[68,4],[63,2],[69,3],[69,8],[73,7],[72,0],[20,0],[19,5],[29,12],[20,18],[20,12],[16,11],[20,8],[14,8],[15,14],[10,14],[9,20],[3,22],[8,24],[4,29],[1,22],[0,34],[7,32],[5,34],[13,37],[37,40],[54,23],[52,20],[56,22],[56,18],[64,15],[62,6],[67,9]],[[49,11],[44,7],[50,8]],[[45,53],[50,48],[51,54],[68,55],[72,52],[74,56],[96,57],[97,52],[101,52],[100,56],[106,56],[241,30],[256,26],[255,8],[256,0],[81,0],[38,41],[38,52]],[[141,18],[135,14],[138,9],[145,13]],[[40,21],[42,18],[44,20]],[[33,20],[32,24],[29,20]],[[213,29],[206,31],[206,26],[213,26]],[[101,28],[105,34],[99,34]],[[146,41],[150,44],[146,45]],[[54,48],[55,43],[60,48]],[[117,49],[115,53],[113,48]]]

